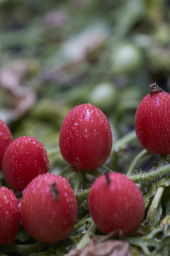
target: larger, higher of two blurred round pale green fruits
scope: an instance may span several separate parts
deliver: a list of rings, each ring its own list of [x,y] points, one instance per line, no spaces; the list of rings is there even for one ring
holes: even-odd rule
[[[115,75],[128,75],[135,72],[142,64],[140,48],[130,43],[114,48],[111,54],[111,69]]]

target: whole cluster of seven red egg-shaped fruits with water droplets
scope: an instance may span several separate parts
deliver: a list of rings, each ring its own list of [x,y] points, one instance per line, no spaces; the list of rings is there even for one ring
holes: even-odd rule
[[[135,129],[137,138],[150,153],[169,154],[170,96],[158,88],[152,85],[152,93],[137,108]],[[111,148],[111,126],[97,107],[78,105],[64,118],[60,151],[74,171],[90,171],[103,165]],[[50,174],[47,152],[38,139],[23,136],[13,140],[2,120],[0,168],[11,187],[0,187],[0,245],[14,241],[21,223],[33,238],[42,242],[67,238],[77,220],[74,190],[67,178]],[[13,191],[22,191],[21,201]],[[89,211],[101,232],[117,230],[117,236],[128,235],[144,218],[145,203],[140,189],[130,178],[109,172],[92,184]]]

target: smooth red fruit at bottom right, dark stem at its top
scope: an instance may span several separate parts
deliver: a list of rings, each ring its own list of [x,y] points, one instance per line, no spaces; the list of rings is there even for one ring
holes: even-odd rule
[[[102,233],[120,229],[123,235],[135,231],[145,214],[142,193],[136,184],[120,173],[96,178],[89,193],[89,210]],[[119,236],[116,233],[115,236]]]

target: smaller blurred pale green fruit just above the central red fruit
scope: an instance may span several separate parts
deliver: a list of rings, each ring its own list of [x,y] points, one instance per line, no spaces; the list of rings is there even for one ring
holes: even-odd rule
[[[103,110],[114,104],[117,95],[115,85],[111,82],[101,82],[91,90],[89,102]]]

